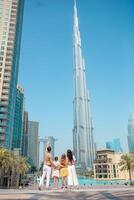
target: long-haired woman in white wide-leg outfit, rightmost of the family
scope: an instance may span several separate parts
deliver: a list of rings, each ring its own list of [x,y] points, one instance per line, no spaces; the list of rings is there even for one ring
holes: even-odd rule
[[[75,169],[75,157],[70,149],[67,150],[68,158],[68,186],[78,186],[78,178]]]

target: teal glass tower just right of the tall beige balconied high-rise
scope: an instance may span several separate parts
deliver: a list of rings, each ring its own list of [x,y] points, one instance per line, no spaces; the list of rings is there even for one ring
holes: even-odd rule
[[[22,149],[23,111],[24,111],[24,89],[19,85],[17,85],[12,149],[14,148]]]

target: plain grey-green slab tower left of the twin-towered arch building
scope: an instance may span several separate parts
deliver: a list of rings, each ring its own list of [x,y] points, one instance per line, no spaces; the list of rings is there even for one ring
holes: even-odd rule
[[[39,167],[39,122],[28,121],[28,157],[30,164]]]

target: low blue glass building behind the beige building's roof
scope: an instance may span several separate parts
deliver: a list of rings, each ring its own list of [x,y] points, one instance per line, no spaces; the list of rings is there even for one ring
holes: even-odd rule
[[[113,139],[113,141],[106,142],[106,148],[110,149],[110,150],[114,150],[117,153],[121,153],[122,147],[121,147],[121,144],[120,144],[120,139],[115,138],[115,139]]]

